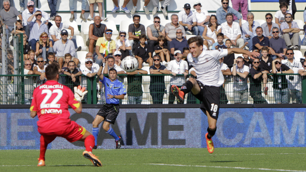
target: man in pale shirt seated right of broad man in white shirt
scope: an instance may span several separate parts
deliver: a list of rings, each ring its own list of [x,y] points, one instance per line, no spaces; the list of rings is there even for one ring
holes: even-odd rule
[[[256,29],[260,27],[258,22],[254,21],[254,14],[248,13],[247,22],[242,25],[242,38],[244,42],[248,42],[247,47],[249,50],[253,50],[253,38],[256,36]]]

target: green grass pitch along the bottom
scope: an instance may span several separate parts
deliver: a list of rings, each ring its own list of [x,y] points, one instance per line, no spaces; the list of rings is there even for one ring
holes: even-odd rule
[[[103,167],[93,167],[82,149],[0,150],[0,172],[306,172],[306,147],[96,149]]]

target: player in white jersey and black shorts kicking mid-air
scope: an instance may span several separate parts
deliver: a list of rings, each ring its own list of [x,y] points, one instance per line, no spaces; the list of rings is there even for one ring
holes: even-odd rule
[[[200,36],[191,37],[188,40],[190,54],[188,54],[188,62],[194,67],[197,80],[190,78],[181,89],[172,86],[171,91],[180,102],[184,102],[184,95],[191,93],[199,99],[202,104],[200,109],[207,115],[208,128],[205,138],[207,150],[209,153],[214,152],[214,144],[211,138],[216,133],[216,124],[219,114],[220,105],[220,86],[224,83],[224,77],[220,70],[219,58],[229,54],[246,54],[249,57],[258,57],[257,52],[249,52],[239,48],[225,50],[203,50],[203,38]],[[183,55],[180,55],[184,58]]]

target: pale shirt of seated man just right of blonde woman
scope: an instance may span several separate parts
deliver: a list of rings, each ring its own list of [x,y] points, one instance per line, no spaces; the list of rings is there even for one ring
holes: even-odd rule
[[[54,42],[53,51],[56,57],[64,57],[66,53],[70,53],[72,57],[75,57],[76,49],[72,40],[67,39],[66,44],[62,43],[62,39]]]

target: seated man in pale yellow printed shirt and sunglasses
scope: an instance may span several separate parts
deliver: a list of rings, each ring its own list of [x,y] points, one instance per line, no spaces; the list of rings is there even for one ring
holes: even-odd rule
[[[113,30],[106,29],[105,36],[100,37],[96,43],[96,55],[94,56],[95,63],[101,66],[103,59],[107,56],[113,55],[116,51],[116,43],[112,38]],[[117,71],[118,72],[118,71]]]

